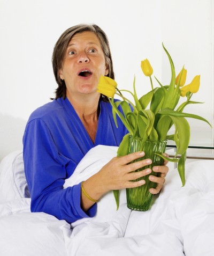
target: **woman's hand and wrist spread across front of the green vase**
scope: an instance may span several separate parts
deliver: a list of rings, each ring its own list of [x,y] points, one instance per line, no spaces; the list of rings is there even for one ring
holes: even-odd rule
[[[148,168],[139,172],[133,171],[151,164],[151,159],[139,160],[129,164],[144,155],[145,153],[141,151],[112,158],[99,172],[84,182],[85,191],[91,198],[99,200],[109,191],[144,185],[145,181],[143,179],[139,181],[132,180],[148,175],[151,173],[151,169]],[[90,201],[85,195],[81,194],[81,207],[83,210],[87,211],[93,204],[93,201]]]

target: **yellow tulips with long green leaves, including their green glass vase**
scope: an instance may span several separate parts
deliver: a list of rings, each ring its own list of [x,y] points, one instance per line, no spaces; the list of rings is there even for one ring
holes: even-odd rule
[[[151,78],[153,69],[146,59],[141,62],[141,68],[144,75],[150,78],[151,91],[147,94],[140,98],[137,97],[135,78],[133,92],[131,92],[119,90],[117,83],[113,79],[104,76],[100,78],[97,91],[109,98],[116,126],[116,115],[118,115],[129,132],[119,145],[118,156],[143,150],[145,152],[144,158],[152,159],[152,164],[147,166],[151,169],[155,165],[162,165],[164,159],[170,162],[177,162],[182,186],[184,186],[186,151],[190,140],[190,127],[186,118],[202,120],[209,125],[210,123],[201,116],[184,112],[184,108],[188,104],[200,104],[200,102],[190,100],[193,93],[196,93],[199,89],[200,75],[195,76],[190,84],[185,85],[187,70],[183,67],[176,77],[172,58],[164,45],[163,48],[171,65],[170,85],[162,85],[155,77],[158,86],[154,87]],[[133,102],[123,96],[124,91],[131,93]],[[114,96],[119,96],[121,100],[114,99]],[[180,97],[186,97],[186,101],[179,105]],[[168,133],[172,126],[174,126],[174,134],[169,135]],[[176,144],[177,151],[174,158],[163,156],[167,140],[173,140]],[[180,158],[177,157],[178,155],[180,155]],[[155,172],[151,174],[158,175]],[[143,179],[146,180],[145,185],[126,189],[127,207],[130,209],[144,211],[150,207],[152,194],[149,189],[156,187],[156,184],[151,182],[147,176],[143,177]],[[118,209],[119,191],[113,192]]]

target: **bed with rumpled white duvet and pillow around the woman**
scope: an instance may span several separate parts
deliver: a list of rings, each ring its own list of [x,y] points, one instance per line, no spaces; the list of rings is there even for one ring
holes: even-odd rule
[[[98,145],[81,160],[64,187],[101,169],[117,147]],[[161,193],[145,212],[126,206],[125,189],[116,211],[113,193],[97,203],[97,215],[68,224],[45,213],[30,213],[21,151],[0,164],[0,255],[214,255],[214,161],[186,164],[186,185],[170,170]]]

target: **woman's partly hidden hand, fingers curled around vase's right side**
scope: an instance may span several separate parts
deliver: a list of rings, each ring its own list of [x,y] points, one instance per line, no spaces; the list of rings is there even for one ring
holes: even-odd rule
[[[166,156],[166,157],[169,157],[166,153],[164,153],[163,155]],[[150,188],[149,189],[149,192],[151,194],[158,194],[161,191],[161,189],[162,189],[162,187],[163,187],[163,185],[165,183],[166,174],[169,171],[169,167],[166,166],[168,162],[169,161],[164,160],[164,163],[163,163],[162,166],[154,166],[152,168],[152,171],[160,172],[161,173],[161,177],[155,177],[154,175],[149,175],[149,180],[151,180],[152,182],[156,182],[157,183],[157,187],[156,188]]]

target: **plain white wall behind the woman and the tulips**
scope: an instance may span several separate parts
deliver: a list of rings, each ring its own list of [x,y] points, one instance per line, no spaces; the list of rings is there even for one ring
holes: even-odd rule
[[[209,108],[204,112],[211,122],[212,2],[0,0],[0,160],[22,148],[30,113],[54,97],[57,85],[51,66],[53,46],[60,34],[79,23],[96,23],[103,28],[109,37],[119,87],[132,89],[135,74],[139,93],[150,90],[140,68],[142,59],[149,58],[155,75],[167,79],[162,70],[168,65],[161,45],[164,41],[175,66],[180,69],[186,65],[189,81],[193,75],[202,75],[195,99],[206,101],[203,111]],[[200,109],[197,106],[197,111]]]

